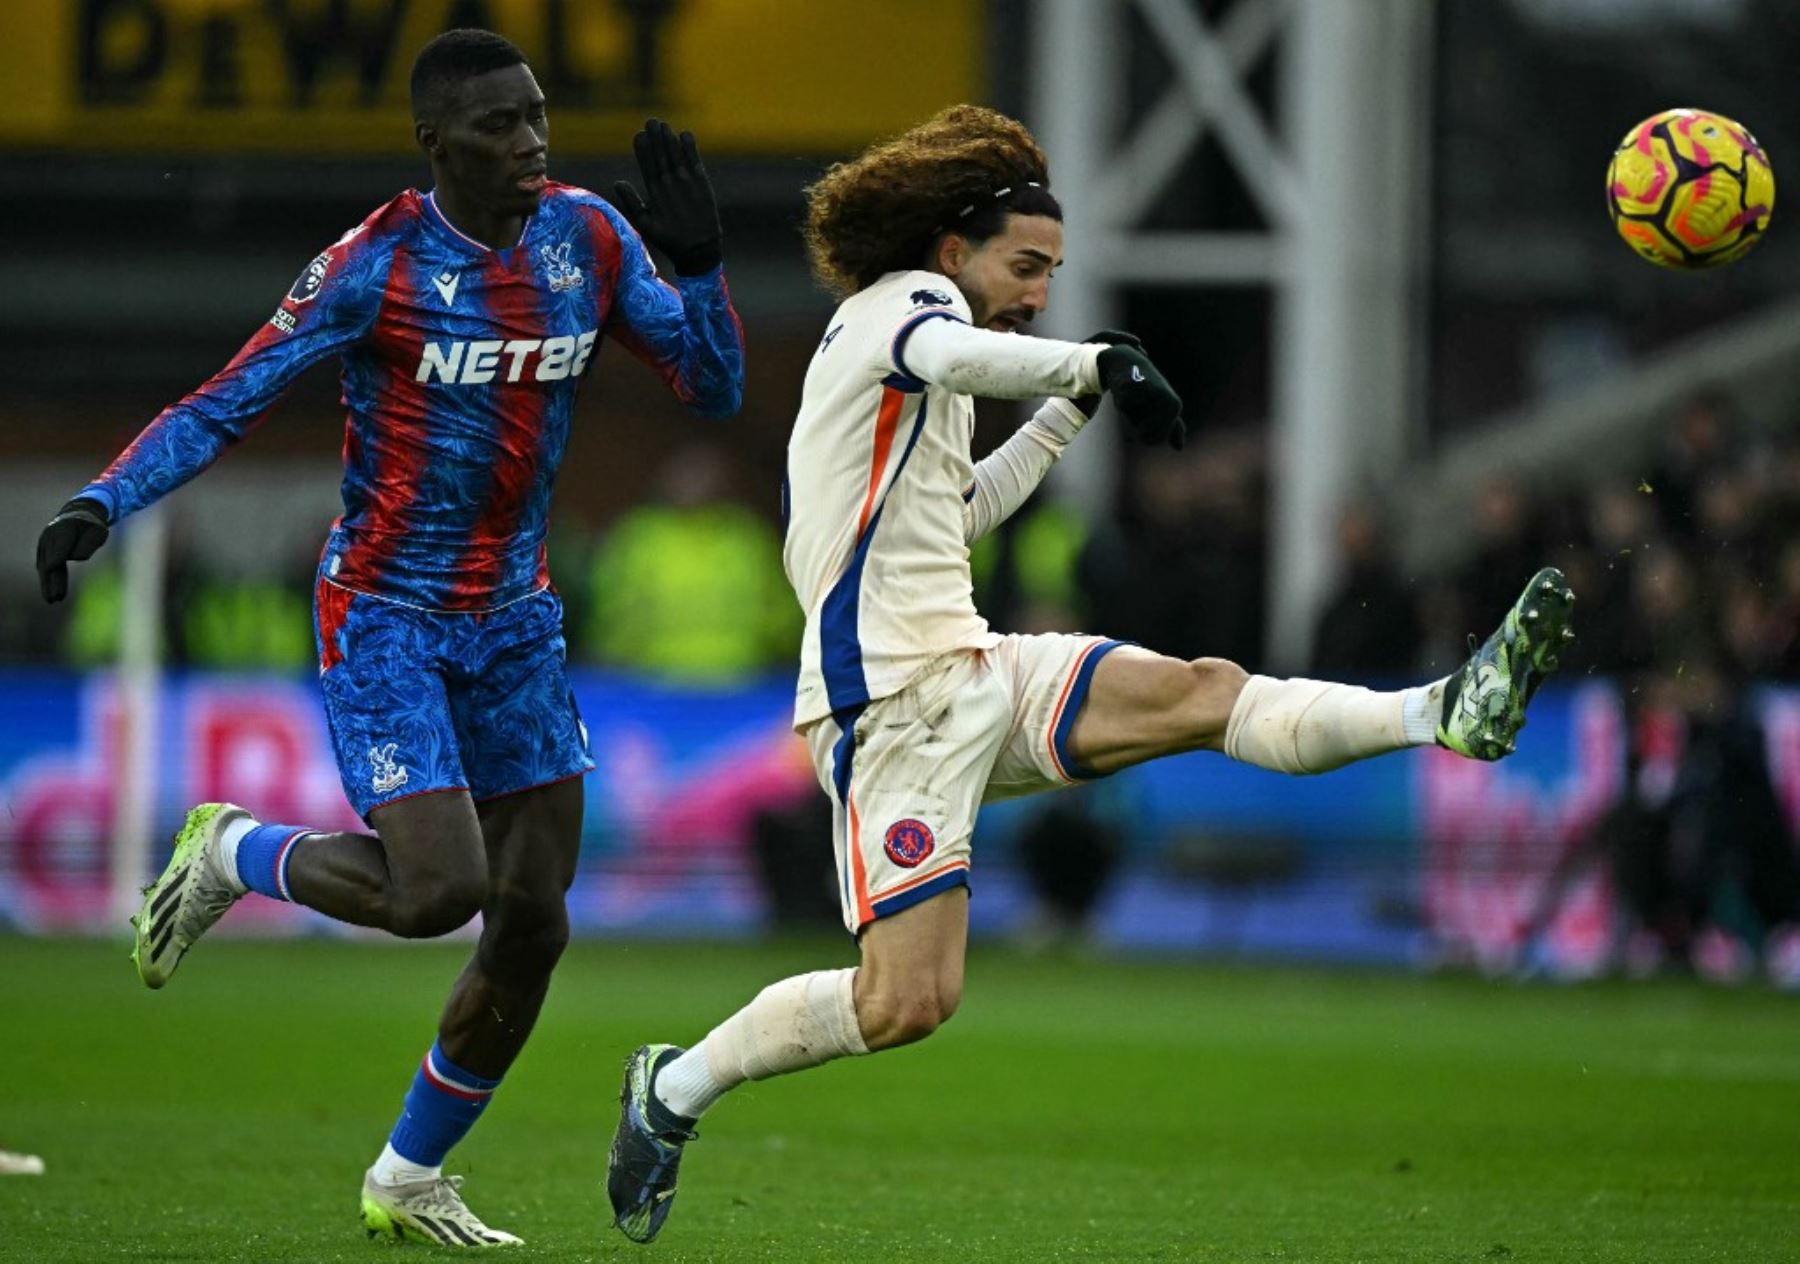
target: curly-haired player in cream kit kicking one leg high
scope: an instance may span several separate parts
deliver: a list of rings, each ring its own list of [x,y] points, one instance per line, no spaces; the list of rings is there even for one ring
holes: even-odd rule
[[[1184,434],[1130,335],[1017,337],[1062,261],[1048,182],[1019,122],[956,106],[808,189],[812,266],[844,301],[788,443],[787,573],[806,609],[794,724],[832,796],[862,965],[774,983],[693,1048],[632,1053],[607,1190],[634,1241],[661,1230],[682,1145],[720,1095],[950,1017],[983,801],[1202,749],[1296,774],[1431,742],[1496,760],[1571,636],[1553,569],[1454,675],[1393,693],[988,628],[968,542],[1019,508],[1102,393],[1139,439]],[[1049,402],[977,463],[976,394]]]

